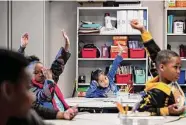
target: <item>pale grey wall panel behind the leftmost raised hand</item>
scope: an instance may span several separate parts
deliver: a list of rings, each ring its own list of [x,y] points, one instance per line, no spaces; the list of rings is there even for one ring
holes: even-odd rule
[[[12,2],[12,48],[20,46],[21,35],[29,33],[26,55],[37,55],[43,62],[44,43],[44,2]]]

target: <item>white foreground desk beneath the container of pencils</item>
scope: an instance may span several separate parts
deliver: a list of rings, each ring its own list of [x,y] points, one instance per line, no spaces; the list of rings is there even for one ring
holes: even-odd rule
[[[155,125],[155,122],[152,122],[150,125]],[[164,123],[170,120],[174,120],[178,117],[167,117],[163,120],[159,120],[162,125],[184,125],[186,123],[186,118],[183,118],[179,121]],[[47,123],[53,123],[54,125],[121,125],[118,118],[118,114],[80,114],[77,115],[72,121],[68,120],[47,120]],[[157,122],[157,121],[156,121]],[[160,125],[160,124],[158,124]]]

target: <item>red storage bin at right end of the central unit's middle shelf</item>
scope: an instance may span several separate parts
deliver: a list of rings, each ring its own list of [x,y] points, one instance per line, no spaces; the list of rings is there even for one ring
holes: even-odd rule
[[[145,49],[130,49],[130,58],[145,58]]]

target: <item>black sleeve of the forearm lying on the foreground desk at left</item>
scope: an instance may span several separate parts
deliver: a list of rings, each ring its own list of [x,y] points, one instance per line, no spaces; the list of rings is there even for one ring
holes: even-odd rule
[[[57,110],[45,108],[37,102],[34,102],[32,108],[44,119],[56,119]]]

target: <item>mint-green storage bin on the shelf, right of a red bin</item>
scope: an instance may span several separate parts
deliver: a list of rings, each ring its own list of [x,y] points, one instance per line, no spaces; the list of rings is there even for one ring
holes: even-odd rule
[[[145,84],[145,71],[144,70],[142,70],[140,73],[138,72],[136,72],[136,70],[135,70],[135,77],[134,77],[134,79],[135,79],[135,83],[136,84]]]

